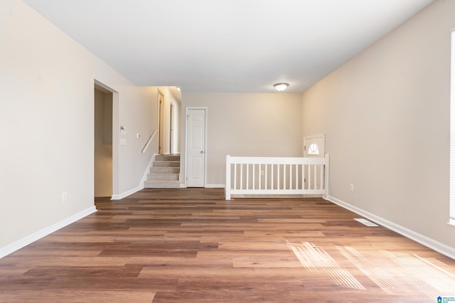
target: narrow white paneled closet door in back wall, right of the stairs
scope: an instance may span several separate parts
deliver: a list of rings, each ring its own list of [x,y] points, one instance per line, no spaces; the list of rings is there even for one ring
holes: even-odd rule
[[[205,186],[205,109],[188,109],[187,187]]]

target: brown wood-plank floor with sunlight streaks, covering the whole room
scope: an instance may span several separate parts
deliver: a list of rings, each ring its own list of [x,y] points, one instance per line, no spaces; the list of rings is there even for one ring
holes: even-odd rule
[[[437,302],[455,260],[320,198],[144,189],[0,259],[0,302]]]

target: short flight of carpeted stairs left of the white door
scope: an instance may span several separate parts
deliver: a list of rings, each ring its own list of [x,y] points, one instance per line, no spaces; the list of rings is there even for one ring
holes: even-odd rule
[[[179,188],[180,155],[156,155],[144,188]]]

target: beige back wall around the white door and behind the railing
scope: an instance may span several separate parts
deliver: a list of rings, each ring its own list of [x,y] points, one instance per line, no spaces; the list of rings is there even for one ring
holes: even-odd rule
[[[207,176],[209,187],[224,186],[226,155],[303,155],[301,94],[182,94],[186,107],[207,107]],[[185,123],[182,122],[182,167],[185,167]],[[184,175],[181,176],[184,183]]]

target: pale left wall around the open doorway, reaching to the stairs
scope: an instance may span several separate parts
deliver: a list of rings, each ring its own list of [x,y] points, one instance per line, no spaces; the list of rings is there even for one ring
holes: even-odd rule
[[[123,194],[154,153],[141,149],[156,89],[134,87],[22,1],[0,1],[0,255],[95,210],[94,79],[115,91],[114,128],[128,128],[127,145],[113,137]]]

